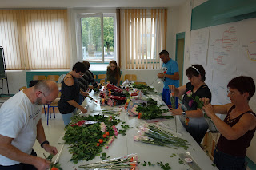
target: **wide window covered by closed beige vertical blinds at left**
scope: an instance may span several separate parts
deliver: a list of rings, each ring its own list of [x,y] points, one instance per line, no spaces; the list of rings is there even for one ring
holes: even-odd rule
[[[6,69],[70,69],[66,10],[0,10]]]

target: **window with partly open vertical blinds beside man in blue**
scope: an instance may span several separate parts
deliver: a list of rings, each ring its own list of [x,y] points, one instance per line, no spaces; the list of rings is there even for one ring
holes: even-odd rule
[[[160,69],[166,49],[166,9],[122,10],[126,69]]]

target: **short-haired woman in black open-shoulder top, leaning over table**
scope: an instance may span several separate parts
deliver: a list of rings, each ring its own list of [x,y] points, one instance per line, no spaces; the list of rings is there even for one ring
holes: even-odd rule
[[[78,78],[82,77],[86,73],[86,66],[82,62],[77,62],[72,71],[66,74],[62,81],[62,95],[58,101],[58,110],[62,113],[62,120],[64,125],[68,125],[76,113],[76,108],[80,109],[82,113],[87,113],[87,110],[78,104],[79,93],[83,96],[88,95],[83,92],[78,83]]]

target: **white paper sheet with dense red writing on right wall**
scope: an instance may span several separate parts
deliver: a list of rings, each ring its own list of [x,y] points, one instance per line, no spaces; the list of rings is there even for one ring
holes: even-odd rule
[[[239,22],[210,27],[208,63],[215,70],[233,73],[238,59]]]

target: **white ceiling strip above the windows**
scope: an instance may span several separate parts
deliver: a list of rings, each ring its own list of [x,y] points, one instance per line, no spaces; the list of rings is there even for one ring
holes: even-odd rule
[[[186,0],[0,0],[0,8],[172,7]]]

